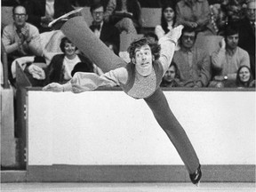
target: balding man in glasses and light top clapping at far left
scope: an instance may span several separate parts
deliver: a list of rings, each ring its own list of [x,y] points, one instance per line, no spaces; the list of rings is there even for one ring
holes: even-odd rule
[[[12,9],[13,23],[2,34],[4,49],[8,54],[9,79],[12,82],[12,61],[23,56],[42,56],[43,48],[38,29],[26,22],[28,14],[23,5]]]

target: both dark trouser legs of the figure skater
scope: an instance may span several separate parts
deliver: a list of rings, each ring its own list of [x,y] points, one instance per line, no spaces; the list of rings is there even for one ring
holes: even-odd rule
[[[73,44],[84,52],[93,63],[104,72],[126,65],[124,60],[117,57],[100,39],[88,28],[83,17],[76,17],[68,20],[61,28]],[[151,108],[156,121],[168,135],[172,144],[177,149],[183,163],[189,173],[196,172],[199,160],[196,152],[188,139],[188,136],[168,105],[164,93],[160,88],[150,97],[145,99],[148,107]]]

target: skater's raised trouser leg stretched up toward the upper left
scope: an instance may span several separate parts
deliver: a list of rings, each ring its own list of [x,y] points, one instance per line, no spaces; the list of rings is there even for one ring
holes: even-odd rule
[[[126,65],[124,60],[117,57],[109,50],[100,39],[88,28],[83,17],[75,17],[68,20],[61,31],[76,47],[84,52],[93,63],[102,69],[104,73],[115,68],[121,68]]]

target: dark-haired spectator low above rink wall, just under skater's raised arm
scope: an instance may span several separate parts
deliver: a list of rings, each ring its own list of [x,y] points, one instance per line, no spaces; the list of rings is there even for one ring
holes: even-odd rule
[[[164,74],[163,80],[160,84],[161,87],[180,87],[180,70],[175,62],[172,62],[170,67]]]

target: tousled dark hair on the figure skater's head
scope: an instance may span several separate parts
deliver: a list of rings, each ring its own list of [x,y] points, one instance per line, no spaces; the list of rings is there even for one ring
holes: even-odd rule
[[[132,42],[132,44],[128,47],[127,52],[129,52],[130,59],[132,60],[132,58],[135,58],[135,50],[137,48],[140,48],[146,44],[148,44],[148,46],[150,47],[151,53],[152,55],[154,55],[155,60],[158,60],[160,57],[160,50],[161,50],[160,44],[152,43],[148,41],[148,39],[145,37],[140,38],[140,40]]]

